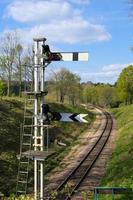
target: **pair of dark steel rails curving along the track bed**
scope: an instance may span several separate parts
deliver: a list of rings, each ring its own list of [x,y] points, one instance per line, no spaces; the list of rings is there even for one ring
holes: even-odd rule
[[[113,126],[113,120],[111,115],[108,112],[103,112],[105,117],[106,117],[106,124],[105,127],[101,133],[101,135],[99,136],[98,140],[95,142],[95,144],[93,145],[93,147],[89,150],[89,152],[85,155],[85,157],[80,161],[80,163],[78,164],[78,166],[76,168],[74,168],[74,170],[66,177],[66,179],[58,186],[58,188],[56,189],[57,192],[59,192],[58,195],[58,200],[62,198],[62,195],[60,195],[60,191],[63,190],[63,188],[65,188],[65,185],[67,185],[67,183],[74,177],[75,173],[77,172],[77,170],[79,170],[82,167],[82,164],[85,163],[85,161],[87,161],[87,158],[89,158],[89,156],[91,155],[91,153],[93,153],[93,151],[95,149],[98,149],[98,145],[100,143],[100,141],[103,139],[103,136],[107,133],[106,131],[108,131],[107,136],[104,136],[104,141],[101,144],[100,148],[98,149],[98,153],[96,156],[94,156],[94,159],[92,160],[92,162],[89,164],[88,168],[85,170],[84,174],[82,177],[80,177],[80,179],[77,181],[77,183],[75,184],[75,186],[72,188],[72,191],[69,193],[69,195],[66,196],[66,194],[64,194],[63,199],[64,200],[69,200],[71,198],[71,196],[74,194],[74,192],[80,187],[80,184],[83,182],[83,180],[85,179],[86,175],[89,173],[89,171],[93,168],[96,160],[99,158],[103,148],[105,147],[110,133],[112,131],[112,126]],[[110,121],[110,123],[109,123]],[[110,126],[110,127],[108,127]],[[74,178],[73,178],[74,179]],[[60,197],[61,196],[61,197]]]

